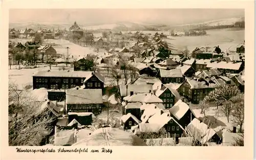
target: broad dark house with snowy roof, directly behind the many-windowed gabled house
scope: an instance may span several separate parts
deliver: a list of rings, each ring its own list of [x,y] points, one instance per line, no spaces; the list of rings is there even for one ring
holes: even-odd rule
[[[158,77],[163,84],[183,82],[181,69],[159,69]]]

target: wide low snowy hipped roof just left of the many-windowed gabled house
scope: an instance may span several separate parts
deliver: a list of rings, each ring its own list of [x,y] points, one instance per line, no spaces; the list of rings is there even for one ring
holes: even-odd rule
[[[126,96],[123,98],[128,102],[145,102],[145,103],[162,103],[163,100],[158,98],[153,93],[135,93],[132,96]]]

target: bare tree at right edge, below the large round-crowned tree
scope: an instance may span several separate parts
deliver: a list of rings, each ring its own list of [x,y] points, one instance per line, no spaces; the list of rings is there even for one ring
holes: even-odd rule
[[[241,93],[234,96],[231,101],[234,105],[231,113],[231,121],[233,124],[239,125],[239,130],[242,132],[242,125],[244,124],[244,94]]]

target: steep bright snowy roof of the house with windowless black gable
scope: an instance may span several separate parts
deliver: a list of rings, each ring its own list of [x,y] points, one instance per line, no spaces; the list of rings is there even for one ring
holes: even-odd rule
[[[180,99],[174,104],[174,106],[172,106],[172,108],[169,109],[169,112],[175,118],[180,120],[187,113],[188,110],[190,110],[192,114],[194,114],[193,111],[189,108],[189,106]]]

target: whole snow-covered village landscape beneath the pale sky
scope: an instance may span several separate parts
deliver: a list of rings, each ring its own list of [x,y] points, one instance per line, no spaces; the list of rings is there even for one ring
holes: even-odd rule
[[[190,28],[10,24],[9,145],[243,146],[244,19]]]

